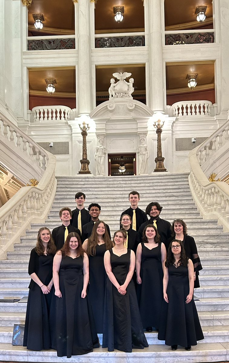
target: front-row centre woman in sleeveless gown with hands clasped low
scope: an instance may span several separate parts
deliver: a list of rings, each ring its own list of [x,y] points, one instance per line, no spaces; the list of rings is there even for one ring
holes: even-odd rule
[[[132,352],[132,348],[148,347],[143,332],[132,275],[135,254],[124,247],[126,232],[114,234],[115,246],[105,252],[107,272],[103,318],[103,348]]]

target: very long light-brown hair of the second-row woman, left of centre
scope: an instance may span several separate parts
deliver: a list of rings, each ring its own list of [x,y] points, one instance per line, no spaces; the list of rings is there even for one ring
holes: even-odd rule
[[[89,256],[95,256],[95,247],[98,245],[98,234],[97,234],[97,228],[99,226],[99,224],[102,223],[105,227],[105,232],[102,236],[102,240],[106,245],[106,250],[114,247],[113,242],[111,241],[109,234],[107,232],[107,226],[106,223],[98,220],[97,222],[95,222],[91,236],[88,238],[87,241],[87,247],[85,249],[85,252],[89,255]]]

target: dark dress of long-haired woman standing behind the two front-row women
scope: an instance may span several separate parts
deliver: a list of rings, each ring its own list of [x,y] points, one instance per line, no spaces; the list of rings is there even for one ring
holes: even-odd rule
[[[103,332],[103,311],[107,274],[104,267],[106,244],[95,246],[95,256],[89,256],[88,295],[95,319],[97,333]]]

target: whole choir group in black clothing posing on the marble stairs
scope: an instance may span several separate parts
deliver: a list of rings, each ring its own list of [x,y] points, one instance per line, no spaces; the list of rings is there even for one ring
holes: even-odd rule
[[[144,331],[158,331],[172,350],[204,339],[193,299],[202,269],[195,240],[182,219],[171,226],[158,202],[145,213],[139,200],[130,192],[113,240],[100,205],[87,211],[82,192],[73,212],[60,210],[52,234],[40,228],[28,268],[27,349],[70,358],[99,347],[99,333],[103,348],[124,352],[148,347]]]

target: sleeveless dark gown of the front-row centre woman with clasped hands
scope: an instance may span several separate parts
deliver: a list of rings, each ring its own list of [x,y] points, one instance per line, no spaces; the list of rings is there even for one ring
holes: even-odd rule
[[[127,249],[127,253],[120,257],[112,249],[109,252],[112,272],[118,283],[123,285],[129,271],[131,250]],[[132,280],[127,286],[126,294],[121,295],[107,278],[104,308],[103,348],[108,348],[108,351],[118,349],[132,352],[132,348],[148,347]]]

